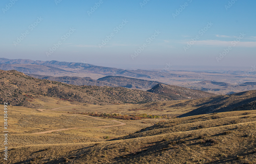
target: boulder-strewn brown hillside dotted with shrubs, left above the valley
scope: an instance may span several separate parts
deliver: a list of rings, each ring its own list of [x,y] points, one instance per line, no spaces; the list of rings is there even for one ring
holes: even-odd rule
[[[58,81],[41,80],[15,70],[0,70],[0,84],[1,104],[8,101],[13,106],[30,108],[35,108],[32,103],[33,96],[37,97],[38,95],[100,105],[170,100],[166,96],[124,87],[76,86]]]

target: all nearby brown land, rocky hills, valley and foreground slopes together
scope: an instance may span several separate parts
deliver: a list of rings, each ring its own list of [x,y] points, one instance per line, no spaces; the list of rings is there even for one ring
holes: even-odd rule
[[[214,95],[158,84],[156,94],[14,70],[0,71],[0,89],[9,131],[1,163],[256,163],[255,90]]]

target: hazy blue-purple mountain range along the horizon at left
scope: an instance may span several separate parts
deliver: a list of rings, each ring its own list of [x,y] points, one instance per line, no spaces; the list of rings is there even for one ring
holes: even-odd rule
[[[159,70],[125,70],[118,68],[110,68],[103,66],[96,66],[86,63],[75,62],[59,62],[59,61],[33,61],[27,59],[7,59],[0,58],[0,69],[16,70],[27,74],[38,74],[48,76],[87,76],[97,77],[100,75],[105,76],[125,76],[135,78],[151,79],[152,77],[184,77],[190,78],[188,75],[169,74],[160,72]],[[101,76],[102,77],[102,76]],[[191,77],[192,78],[192,77]]]

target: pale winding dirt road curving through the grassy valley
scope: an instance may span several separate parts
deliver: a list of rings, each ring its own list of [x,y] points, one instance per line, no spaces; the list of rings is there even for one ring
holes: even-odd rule
[[[68,106],[68,107],[74,107],[74,106]],[[67,108],[67,107],[61,107],[61,108]],[[55,108],[55,109],[60,109],[60,108]],[[40,112],[46,112],[45,111],[46,109],[37,109],[37,110],[40,111]],[[48,110],[48,111],[57,111],[57,110],[51,109],[51,110]],[[46,112],[46,113],[55,113],[55,112]],[[89,118],[93,118],[93,119],[97,119],[97,120],[103,120],[103,119],[99,119],[99,118],[95,118],[95,117],[87,116],[87,115],[81,115],[81,114],[71,114],[71,113],[65,113],[65,114],[78,115],[78,116],[89,117]],[[80,129],[80,128],[104,128],[104,127],[114,127],[114,126],[126,125],[126,123],[123,123],[123,122],[119,122],[119,121],[115,121],[115,120],[110,120],[110,121],[118,122],[120,124],[118,124],[118,125],[110,125],[110,126],[98,126],[98,127],[73,127],[73,128],[50,130],[50,131],[38,132],[38,133],[32,133],[32,134],[45,134],[45,133],[51,133],[51,132],[57,132],[57,131],[65,131],[65,130],[71,130],[71,129]]]

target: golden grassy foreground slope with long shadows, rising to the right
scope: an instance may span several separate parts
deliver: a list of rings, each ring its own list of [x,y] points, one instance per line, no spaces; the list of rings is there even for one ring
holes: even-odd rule
[[[105,142],[15,147],[9,163],[253,164],[255,126],[256,111],[189,116]]]

